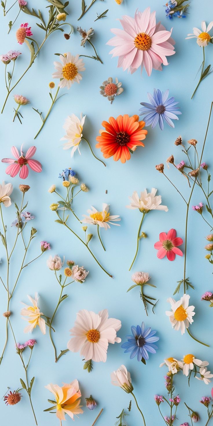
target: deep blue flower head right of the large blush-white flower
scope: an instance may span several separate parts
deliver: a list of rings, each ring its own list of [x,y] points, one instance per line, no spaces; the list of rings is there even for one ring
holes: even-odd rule
[[[154,345],[154,342],[159,340],[159,337],[154,336],[157,331],[151,330],[151,328],[145,328],[144,322],[140,325],[132,325],[132,336],[126,336],[128,342],[123,343],[121,348],[125,349],[124,353],[131,352],[130,360],[137,355],[138,361],[149,359],[148,352],[151,354],[156,354],[155,349],[158,349],[158,346]]]

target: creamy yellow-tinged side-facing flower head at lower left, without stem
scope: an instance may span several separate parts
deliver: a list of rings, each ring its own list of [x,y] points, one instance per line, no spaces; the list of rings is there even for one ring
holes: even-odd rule
[[[23,303],[26,307],[21,310],[21,315],[28,318],[23,318],[24,320],[29,322],[29,325],[24,329],[24,333],[31,333],[34,328],[36,328],[37,325],[39,325],[40,331],[42,334],[46,334],[46,325],[45,320],[41,318],[43,315],[43,312],[40,312],[40,309],[38,307],[38,294],[35,293],[35,299],[32,299],[31,296],[27,295],[28,299],[32,302],[32,306],[26,305],[26,303]]]

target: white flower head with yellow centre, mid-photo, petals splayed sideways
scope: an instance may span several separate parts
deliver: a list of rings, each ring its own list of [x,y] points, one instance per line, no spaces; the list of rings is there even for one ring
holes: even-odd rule
[[[113,222],[119,222],[121,218],[118,215],[110,216],[109,204],[103,203],[102,209],[103,209],[102,211],[98,211],[95,209],[95,207],[92,207],[92,210],[91,209],[87,210],[87,213],[89,213],[89,216],[86,216],[85,214],[83,214],[85,219],[82,220],[82,223],[99,225],[101,228],[104,228],[105,230],[110,228],[109,223],[110,225],[120,226],[118,223],[113,223]]]

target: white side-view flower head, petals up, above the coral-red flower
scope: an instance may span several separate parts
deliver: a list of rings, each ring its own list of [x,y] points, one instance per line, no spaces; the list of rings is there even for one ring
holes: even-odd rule
[[[155,196],[157,189],[152,188],[150,193],[147,193],[145,189],[141,192],[141,196],[139,198],[137,191],[134,191],[132,197],[130,199],[130,206],[126,206],[128,209],[139,209],[141,213],[147,213],[150,210],[165,210],[168,211],[167,206],[162,206],[161,204],[161,196]]]

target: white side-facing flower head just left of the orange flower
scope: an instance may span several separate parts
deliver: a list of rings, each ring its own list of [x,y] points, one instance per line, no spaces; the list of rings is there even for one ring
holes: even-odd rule
[[[79,120],[79,118],[76,117],[75,114],[69,115],[63,125],[63,129],[66,131],[66,135],[63,136],[60,141],[68,141],[63,144],[63,150],[69,150],[69,148],[73,147],[71,151],[71,157],[73,156],[77,148],[79,154],[81,154],[79,150],[79,144],[81,142],[81,138],[83,137],[82,132],[85,117],[86,115],[84,115],[83,117],[81,113],[81,120]]]

